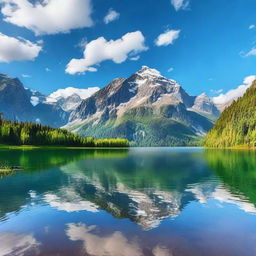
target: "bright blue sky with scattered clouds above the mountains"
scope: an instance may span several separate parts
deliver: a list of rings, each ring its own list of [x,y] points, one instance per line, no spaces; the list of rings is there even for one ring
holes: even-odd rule
[[[211,90],[219,89],[225,92],[241,84],[244,77],[256,74],[255,0],[73,1],[74,8],[67,6],[70,9],[68,17],[65,17],[65,10],[62,12],[63,6],[57,5],[60,0],[44,2],[42,7],[56,2],[51,8],[51,16],[46,19],[44,14],[42,17],[35,12],[30,15],[29,9],[23,6],[20,6],[24,8],[20,14],[6,11],[8,1],[3,0],[0,4],[0,32],[5,36],[6,45],[3,49],[0,40],[0,72],[19,77],[27,87],[51,93],[68,86],[103,87],[114,78],[128,77],[142,65],[147,65],[177,80],[192,95],[202,92],[211,95]],[[18,0],[11,2],[15,5]],[[118,15],[106,24],[104,17],[111,10]],[[76,14],[77,20],[74,20]],[[32,18],[27,21],[28,16]],[[80,28],[76,28],[77,23]],[[111,49],[103,50],[107,41],[118,40],[136,31],[140,35],[129,34],[128,48],[117,43]],[[170,31],[179,31],[176,39],[169,38],[168,44],[167,38],[165,44],[157,45],[159,35]],[[88,49],[90,57],[84,57],[86,43],[88,45],[100,37],[106,40],[100,50],[97,47],[96,51]],[[14,49],[14,54],[11,49],[7,55],[10,38],[16,38],[18,43],[29,40],[35,46],[33,52],[20,53],[19,49],[17,52]],[[120,60],[123,51],[126,55]],[[138,60],[131,60],[138,56]],[[93,67],[97,71],[68,74],[67,64],[73,58],[86,58],[87,64],[83,68]],[[77,66],[74,68],[77,70]],[[170,69],[173,70],[168,72]]]

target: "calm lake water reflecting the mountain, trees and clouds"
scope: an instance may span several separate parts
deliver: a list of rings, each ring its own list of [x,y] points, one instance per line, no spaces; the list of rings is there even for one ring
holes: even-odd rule
[[[0,150],[0,256],[256,255],[256,153]]]

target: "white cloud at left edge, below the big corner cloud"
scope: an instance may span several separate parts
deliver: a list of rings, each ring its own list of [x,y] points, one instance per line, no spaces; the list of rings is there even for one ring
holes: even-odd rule
[[[0,62],[34,60],[42,46],[0,33]]]

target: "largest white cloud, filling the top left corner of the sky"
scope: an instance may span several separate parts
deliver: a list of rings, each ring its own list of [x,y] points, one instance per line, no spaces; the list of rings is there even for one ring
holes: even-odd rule
[[[93,25],[90,0],[1,0],[4,21],[37,35],[68,32]]]

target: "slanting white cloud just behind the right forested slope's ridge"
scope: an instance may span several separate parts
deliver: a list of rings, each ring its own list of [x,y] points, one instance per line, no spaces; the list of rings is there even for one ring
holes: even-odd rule
[[[256,79],[256,76],[247,76],[242,85],[239,85],[236,89],[229,90],[225,94],[213,97],[215,104],[228,104],[229,102],[238,99],[243,96],[246,90],[252,85],[252,82]]]

